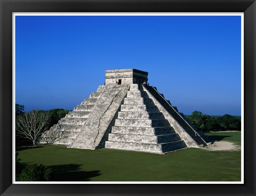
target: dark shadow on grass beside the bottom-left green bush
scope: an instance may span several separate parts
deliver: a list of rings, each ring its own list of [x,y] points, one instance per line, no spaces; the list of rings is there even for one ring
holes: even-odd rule
[[[101,175],[99,170],[80,171],[81,165],[53,165],[51,181],[90,181],[92,177]]]

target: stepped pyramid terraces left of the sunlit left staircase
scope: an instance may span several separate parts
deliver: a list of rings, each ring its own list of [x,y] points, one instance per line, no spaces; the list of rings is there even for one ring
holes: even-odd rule
[[[93,111],[94,105],[102,95],[105,86],[99,86],[96,92],[93,92],[89,98],[84,99],[81,105],[77,105],[73,111],[69,112],[64,118],[59,120],[58,124],[53,125],[49,131],[46,131],[42,138],[59,137],[53,143],[70,145],[77,138],[83,129],[87,118]],[[44,140],[41,139],[41,143]]]

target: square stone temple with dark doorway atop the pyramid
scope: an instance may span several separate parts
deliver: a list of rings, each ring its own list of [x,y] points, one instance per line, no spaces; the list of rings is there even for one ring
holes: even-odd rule
[[[136,69],[106,70],[105,84],[142,84],[148,81],[148,72]]]

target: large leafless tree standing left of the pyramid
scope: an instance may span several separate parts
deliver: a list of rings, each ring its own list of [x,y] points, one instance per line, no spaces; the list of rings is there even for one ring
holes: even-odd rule
[[[15,130],[20,137],[33,141],[35,145],[38,137],[47,130],[49,121],[50,116],[48,113],[33,110],[16,117]]]

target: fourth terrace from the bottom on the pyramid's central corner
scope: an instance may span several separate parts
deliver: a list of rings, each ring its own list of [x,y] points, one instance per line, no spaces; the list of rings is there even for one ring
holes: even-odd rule
[[[167,120],[116,119],[115,126],[163,127],[170,126]]]

